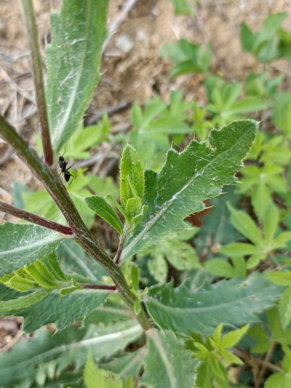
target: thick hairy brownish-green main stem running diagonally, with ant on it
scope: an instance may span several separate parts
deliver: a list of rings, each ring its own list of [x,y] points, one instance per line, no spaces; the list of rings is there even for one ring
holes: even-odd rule
[[[130,291],[121,269],[113,262],[111,257],[107,255],[81,219],[78,210],[62,184],[58,174],[38,158],[36,152],[18,135],[16,130],[10,126],[2,116],[0,116],[0,134],[10,145],[12,145],[17,156],[31,168],[31,171],[36,178],[38,178],[47,189],[50,196],[54,199],[66,218],[69,227],[74,230],[76,236],[74,237],[75,241],[88,253],[88,255],[92,256],[94,260],[102,265],[111,279],[113,279],[120,296],[130,308],[133,308],[135,296]],[[144,311],[143,314],[137,316],[137,319],[145,330],[149,328],[149,322]]]

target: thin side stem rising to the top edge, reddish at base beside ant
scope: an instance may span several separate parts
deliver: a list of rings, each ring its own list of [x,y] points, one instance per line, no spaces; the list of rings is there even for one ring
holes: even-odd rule
[[[33,79],[35,84],[35,97],[38,106],[38,117],[40,120],[40,134],[42,137],[43,153],[45,163],[51,166],[53,163],[52,143],[50,141],[49,120],[47,117],[47,106],[45,103],[45,88],[42,76],[42,57],[38,47],[38,33],[35,22],[35,13],[32,0],[21,0],[24,22],[26,25],[28,44],[31,54]]]

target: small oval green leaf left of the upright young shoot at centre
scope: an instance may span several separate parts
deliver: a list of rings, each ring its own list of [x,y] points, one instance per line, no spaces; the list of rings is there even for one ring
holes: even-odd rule
[[[122,234],[123,228],[120,218],[104,198],[92,195],[90,197],[85,197],[85,202],[95,214],[104,218],[104,220],[117,230],[119,234]]]

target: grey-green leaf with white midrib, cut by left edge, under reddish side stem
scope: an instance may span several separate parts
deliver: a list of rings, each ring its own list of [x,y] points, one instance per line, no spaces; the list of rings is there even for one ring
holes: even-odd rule
[[[0,225],[0,277],[49,255],[68,238],[71,236],[38,225],[3,223]]]

